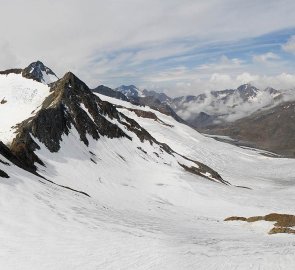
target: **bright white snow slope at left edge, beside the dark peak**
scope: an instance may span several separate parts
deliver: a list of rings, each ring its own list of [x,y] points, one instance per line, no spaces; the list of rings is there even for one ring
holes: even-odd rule
[[[15,125],[34,115],[49,95],[43,83],[21,74],[0,75],[0,140],[9,143],[15,137]]]

